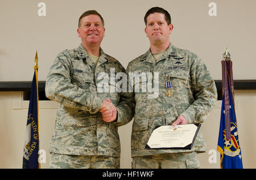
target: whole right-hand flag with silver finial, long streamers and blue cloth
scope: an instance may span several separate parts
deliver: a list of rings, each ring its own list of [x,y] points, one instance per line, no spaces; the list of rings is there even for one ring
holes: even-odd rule
[[[226,50],[224,58],[225,61],[222,61],[222,106],[217,151],[221,154],[221,168],[242,169],[242,153],[234,109],[232,61],[228,50]]]

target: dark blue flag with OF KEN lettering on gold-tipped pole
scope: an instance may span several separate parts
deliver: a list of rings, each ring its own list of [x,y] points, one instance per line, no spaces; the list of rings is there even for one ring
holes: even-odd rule
[[[23,148],[23,169],[39,169],[39,127],[38,127],[38,54],[35,57],[35,72],[31,85],[28,106],[26,134]]]

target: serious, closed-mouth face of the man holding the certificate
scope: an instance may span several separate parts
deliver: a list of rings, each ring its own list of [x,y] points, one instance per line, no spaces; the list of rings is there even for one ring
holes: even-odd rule
[[[172,24],[167,24],[164,14],[155,12],[147,16],[145,32],[152,45],[170,44],[170,37],[173,29]]]

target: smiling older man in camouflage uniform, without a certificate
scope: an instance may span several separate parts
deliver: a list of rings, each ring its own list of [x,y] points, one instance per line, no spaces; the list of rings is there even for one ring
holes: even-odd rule
[[[119,168],[117,130],[133,118],[134,104],[128,93],[115,91],[115,81],[107,84],[113,92],[98,91],[98,75],[115,78],[125,68],[100,48],[105,28],[97,11],[80,16],[77,32],[81,45],[57,56],[46,82],[46,96],[60,102],[50,168]]]

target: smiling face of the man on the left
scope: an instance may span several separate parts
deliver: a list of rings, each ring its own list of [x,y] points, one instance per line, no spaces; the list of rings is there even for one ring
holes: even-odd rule
[[[100,46],[105,36],[105,28],[98,15],[88,15],[81,19],[81,26],[77,29],[78,36],[81,38],[82,45]]]

